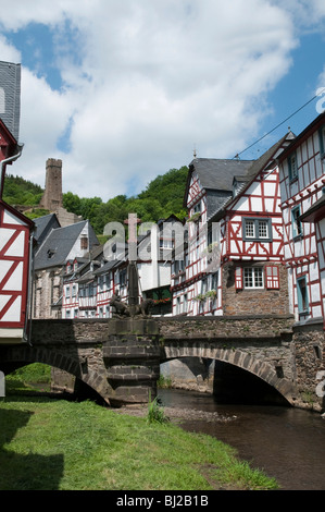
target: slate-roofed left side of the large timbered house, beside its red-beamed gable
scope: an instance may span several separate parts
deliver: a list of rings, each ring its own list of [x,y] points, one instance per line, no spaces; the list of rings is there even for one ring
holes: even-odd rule
[[[232,197],[234,176],[245,176],[251,164],[250,160],[208,158],[190,163],[184,200],[189,216],[187,245],[184,258],[172,267],[173,315],[216,314],[220,271],[209,249],[220,240],[210,229],[210,219]]]

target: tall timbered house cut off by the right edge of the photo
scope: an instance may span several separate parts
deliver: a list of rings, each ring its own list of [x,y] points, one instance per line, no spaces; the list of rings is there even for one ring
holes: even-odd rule
[[[325,318],[325,113],[279,159],[285,264],[291,313]]]

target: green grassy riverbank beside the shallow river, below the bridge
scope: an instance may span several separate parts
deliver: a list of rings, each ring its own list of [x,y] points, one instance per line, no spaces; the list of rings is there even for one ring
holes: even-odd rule
[[[276,489],[233,448],[166,420],[155,401],[147,417],[39,391],[48,367],[7,377],[0,399],[0,490]],[[38,382],[35,391],[32,381]],[[41,383],[40,383],[41,382]]]

